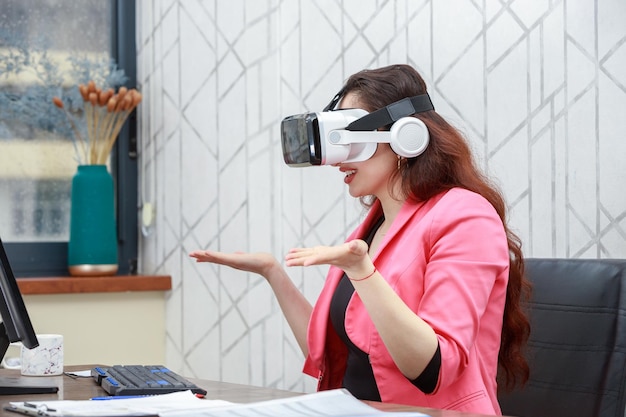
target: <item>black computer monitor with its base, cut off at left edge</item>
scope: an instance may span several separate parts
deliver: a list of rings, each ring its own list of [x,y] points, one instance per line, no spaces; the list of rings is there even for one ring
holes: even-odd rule
[[[39,346],[30,321],[22,293],[9,264],[2,239],[0,239],[0,360],[13,342],[21,342],[28,349]],[[50,383],[24,383],[20,378],[0,378],[0,395],[39,394],[58,391]]]

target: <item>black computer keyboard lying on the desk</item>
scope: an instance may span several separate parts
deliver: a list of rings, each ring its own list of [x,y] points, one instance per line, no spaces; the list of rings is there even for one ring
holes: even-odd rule
[[[91,376],[109,395],[156,395],[187,390],[206,395],[206,390],[160,365],[96,367],[91,369]]]

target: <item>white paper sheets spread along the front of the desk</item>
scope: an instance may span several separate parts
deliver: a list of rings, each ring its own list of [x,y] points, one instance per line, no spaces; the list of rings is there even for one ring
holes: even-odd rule
[[[384,412],[359,401],[346,390],[322,391],[290,398],[236,404],[200,399],[191,391],[105,401],[12,402],[11,411],[33,416],[154,416],[160,417],[424,417],[419,412]]]

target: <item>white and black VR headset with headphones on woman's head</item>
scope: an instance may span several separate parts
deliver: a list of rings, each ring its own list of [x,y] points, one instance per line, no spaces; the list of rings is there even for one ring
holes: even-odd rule
[[[343,90],[318,113],[296,114],[281,122],[283,159],[291,167],[365,161],[378,143],[405,158],[420,155],[428,146],[428,129],[415,113],[434,110],[428,94],[409,97],[368,113],[362,109],[332,110]],[[391,125],[389,131],[377,129]]]

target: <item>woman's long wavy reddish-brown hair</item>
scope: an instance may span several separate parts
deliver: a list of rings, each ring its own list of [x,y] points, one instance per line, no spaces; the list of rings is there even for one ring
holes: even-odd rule
[[[425,94],[426,83],[412,67],[391,65],[352,75],[344,86],[343,94],[348,92],[356,94],[365,110],[371,112],[403,98]],[[530,297],[531,286],[524,274],[521,241],[507,226],[504,198],[477,168],[469,145],[457,129],[434,110],[413,116],[426,124],[430,142],[422,155],[407,159],[402,169],[397,171],[402,179],[404,195],[424,201],[442,191],[462,187],[486,198],[502,219],[510,268],[498,356],[499,376],[504,378],[505,388],[513,388],[518,382],[523,385],[529,375],[524,347],[530,334],[530,322],[524,307]]]

